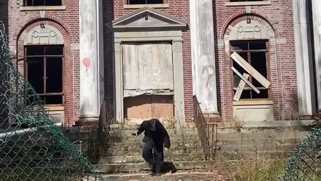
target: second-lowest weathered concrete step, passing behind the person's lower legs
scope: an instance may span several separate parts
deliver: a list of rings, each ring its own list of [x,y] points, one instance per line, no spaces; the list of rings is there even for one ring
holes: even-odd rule
[[[203,161],[205,160],[204,153],[185,153],[185,154],[171,154],[164,153],[164,159],[168,161]],[[101,163],[141,163],[144,159],[141,155],[132,156],[105,156]]]

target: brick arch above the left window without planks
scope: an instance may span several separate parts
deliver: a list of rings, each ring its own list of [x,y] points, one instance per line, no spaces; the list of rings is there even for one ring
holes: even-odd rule
[[[32,17],[27,21],[21,23],[21,26],[18,27],[18,29],[16,30],[13,36],[13,42],[16,42],[16,45],[18,46],[18,43],[19,43],[18,41],[23,39],[24,36],[26,36],[26,33],[30,31],[32,28],[39,26],[40,23],[44,23],[45,25],[50,25],[56,28],[57,30],[59,30],[59,32],[64,37],[64,41],[67,44],[70,44],[74,41],[72,36],[70,36],[70,30],[65,23],[60,21],[58,18],[50,15],[46,15],[45,17],[40,17],[39,15],[39,16]]]

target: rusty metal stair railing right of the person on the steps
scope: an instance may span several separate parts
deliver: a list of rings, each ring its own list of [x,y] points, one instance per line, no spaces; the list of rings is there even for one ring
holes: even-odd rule
[[[200,137],[206,160],[215,160],[217,157],[217,124],[207,123],[197,97],[193,97],[194,123]]]

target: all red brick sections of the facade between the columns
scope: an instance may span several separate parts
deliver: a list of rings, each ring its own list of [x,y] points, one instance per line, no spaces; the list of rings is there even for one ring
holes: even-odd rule
[[[9,44],[17,47],[18,58],[24,55],[24,37],[33,27],[43,20],[45,25],[57,28],[65,41],[65,124],[72,125],[80,114],[80,72],[79,49],[73,45],[79,44],[79,3],[75,0],[62,0],[66,10],[55,11],[21,11],[20,0],[9,0],[0,16],[8,13]],[[2,1],[3,2],[3,1]],[[271,0],[271,5],[264,6],[226,6],[228,0],[213,1],[214,36],[216,42],[217,94],[219,113],[224,121],[233,119],[231,60],[226,52],[224,39],[228,37],[231,28],[236,23],[246,20],[246,17],[260,22],[270,34],[269,62],[272,81],[272,101],[275,120],[294,119],[298,114],[295,47],[293,36],[293,15],[291,0]],[[169,8],[157,10],[190,22],[189,1],[166,0]],[[104,59],[105,59],[105,98],[107,109],[113,105],[113,34],[108,24],[136,9],[124,9],[126,0],[103,0],[104,20]],[[0,3],[0,5],[2,5]],[[8,8],[6,8],[8,6]],[[248,13],[247,13],[248,12]],[[6,18],[4,18],[6,21]],[[6,22],[5,22],[6,24]],[[183,34],[183,64],[185,113],[187,121],[193,118],[193,82],[190,31]],[[286,43],[278,44],[279,39]],[[220,43],[221,42],[221,43]],[[223,45],[222,45],[223,42]],[[23,64],[21,64],[23,68]],[[109,106],[108,106],[109,105]],[[111,113],[107,111],[107,113]]]

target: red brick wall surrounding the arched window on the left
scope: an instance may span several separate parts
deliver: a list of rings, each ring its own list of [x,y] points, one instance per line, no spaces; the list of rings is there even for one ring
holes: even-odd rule
[[[1,2],[8,2],[8,7],[2,6],[1,9],[4,11],[0,12],[6,13],[7,9],[9,45],[11,51],[14,52],[18,43],[17,55],[19,59],[24,56],[23,42],[27,32],[40,25],[41,18],[45,17],[43,19],[45,25],[51,25],[62,33],[65,42],[65,124],[74,124],[80,114],[79,50],[74,50],[71,47],[72,44],[79,44],[78,1],[62,0],[66,10],[45,11],[44,17],[41,17],[40,11],[21,11],[22,0],[1,0]],[[0,16],[3,17],[2,14]],[[23,71],[23,61],[19,62],[19,69]]]

